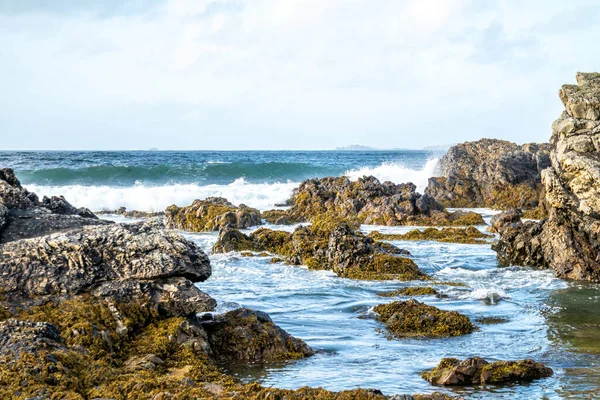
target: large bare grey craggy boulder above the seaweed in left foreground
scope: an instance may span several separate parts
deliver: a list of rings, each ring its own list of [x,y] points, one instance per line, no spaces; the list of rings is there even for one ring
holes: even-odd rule
[[[211,274],[206,254],[157,220],[90,226],[0,246],[0,291],[12,297],[91,292],[116,301],[147,295],[169,315],[215,302],[192,282]]]

